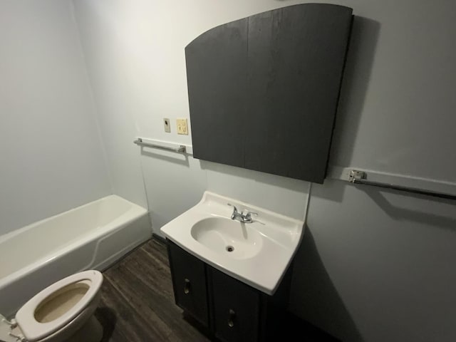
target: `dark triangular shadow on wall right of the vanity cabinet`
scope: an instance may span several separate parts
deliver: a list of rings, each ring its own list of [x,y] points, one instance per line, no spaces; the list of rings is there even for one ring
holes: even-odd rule
[[[306,307],[294,303],[305,303]],[[326,272],[309,227],[294,258],[290,310],[310,323],[325,322],[325,326],[318,328],[341,341],[364,341]],[[328,327],[333,331],[328,331]],[[343,336],[349,336],[349,340]]]

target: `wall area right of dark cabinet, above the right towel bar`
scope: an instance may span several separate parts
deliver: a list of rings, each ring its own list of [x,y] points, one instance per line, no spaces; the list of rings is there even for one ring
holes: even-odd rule
[[[364,18],[353,25],[331,163],[456,185],[455,1],[339,2]]]

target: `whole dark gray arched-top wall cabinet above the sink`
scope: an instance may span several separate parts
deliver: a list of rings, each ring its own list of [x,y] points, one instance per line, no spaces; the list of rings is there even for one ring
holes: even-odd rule
[[[217,26],[185,49],[194,156],[323,182],[352,10],[301,4]]]

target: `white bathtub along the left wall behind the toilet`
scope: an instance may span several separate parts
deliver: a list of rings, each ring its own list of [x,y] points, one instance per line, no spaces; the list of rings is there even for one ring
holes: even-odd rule
[[[147,210],[116,195],[0,236],[0,314],[69,274],[104,269],[151,236]]]

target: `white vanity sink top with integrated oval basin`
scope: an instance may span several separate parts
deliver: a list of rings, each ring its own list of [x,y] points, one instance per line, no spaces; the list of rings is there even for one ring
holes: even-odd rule
[[[230,219],[232,206],[258,214],[254,222],[242,223]],[[274,294],[299,246],[303,227],[303,221],[204,192],[195,207],[165,224],[161,232],[214,268]]]

